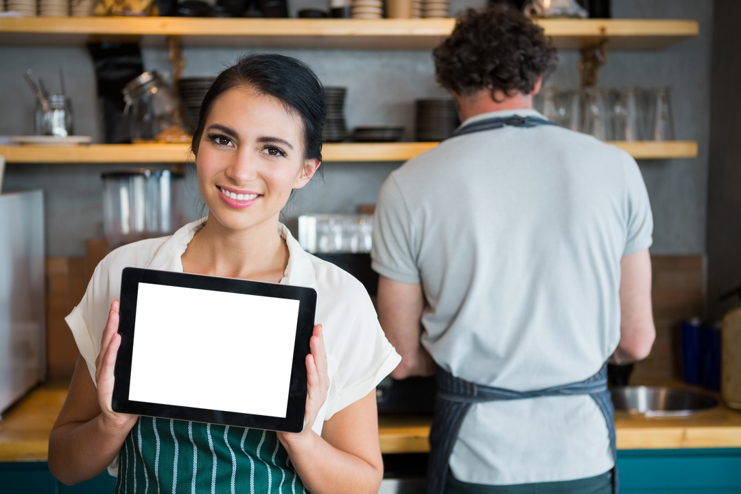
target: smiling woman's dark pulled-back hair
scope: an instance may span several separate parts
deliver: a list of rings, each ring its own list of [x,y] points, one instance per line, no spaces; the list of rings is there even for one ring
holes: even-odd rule
[[[250,87],[258,93],[273,96],[296,113],[304,124],[304,158],[322,161],[322,127],[325,104],[322,83],[307,64],[290,56],[276,54],[246,55],[224,70],[211,84],[193,131],[190,149],[198,153],[206,119],[214,101],[236,87]]]

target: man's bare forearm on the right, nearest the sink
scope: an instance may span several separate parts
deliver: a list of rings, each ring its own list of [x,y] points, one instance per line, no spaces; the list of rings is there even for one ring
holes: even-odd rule
[[[640,250],[620,260],[620,342],[612,364],[642,360],[651,352],[656,338],[651,309],[651,256]]]

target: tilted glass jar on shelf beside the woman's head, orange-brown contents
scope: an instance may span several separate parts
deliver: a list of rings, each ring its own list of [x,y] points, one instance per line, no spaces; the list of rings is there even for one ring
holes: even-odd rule
[[[145,72],[124,87],[124,116],[131,141],[187,142],[182,130],[179,99],[156,70]]]

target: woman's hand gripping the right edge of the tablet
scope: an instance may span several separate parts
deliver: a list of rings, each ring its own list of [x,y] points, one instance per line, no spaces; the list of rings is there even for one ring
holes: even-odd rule
[[[314,332],[309,341],[311,353],[306,356],[306,381],[308,393],[306,394],[306,410],[304,413],[304,430],[300,433],[278,433],[279,440],[293,444],[302,441],[311,434],[311,427],[316,421],[319,409],[327,400],[329,389],[329,375],[327,373],[327,353],[324,346],[324,332],[322,324],[314,326]]]

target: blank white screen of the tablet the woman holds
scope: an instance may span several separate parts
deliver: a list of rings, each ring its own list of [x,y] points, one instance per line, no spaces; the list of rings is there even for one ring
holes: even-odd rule
[[[132,399],[285,413],[296,302],[139,288]]]

